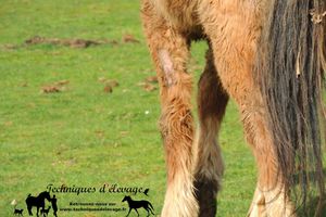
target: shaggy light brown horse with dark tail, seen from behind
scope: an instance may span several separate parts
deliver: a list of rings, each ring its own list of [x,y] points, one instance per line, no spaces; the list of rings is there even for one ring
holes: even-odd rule
[[[230,98],[258,166],[248,216],[321,215],[325,10],[325,0],[141,1],[160,85],[163,217],[216,215],[224,174],[216,138]],[[187,71],[196,40],[209,44],[197,125]],[[309,208],[313,197],[316,206]]]

